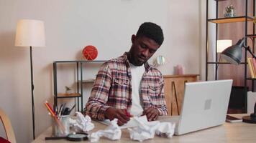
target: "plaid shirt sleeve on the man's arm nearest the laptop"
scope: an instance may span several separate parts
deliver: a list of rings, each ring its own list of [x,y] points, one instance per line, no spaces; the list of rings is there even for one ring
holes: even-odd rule
[[[159,104],[156,106],[156,109],[160,113],[160,116],[163,115],[168,115],[168,110],[165,102],[165,91],[164,91],[164,80],[163,76],[161,75],[161,80],[160,80],[160,95],[159,95]]]

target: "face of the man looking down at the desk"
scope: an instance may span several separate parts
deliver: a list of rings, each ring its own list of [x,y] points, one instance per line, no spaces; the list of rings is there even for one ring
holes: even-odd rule
[[[154,40],[146,36],[132,35],[132,47],[129,51],[129,61],[134,66],[141,66],[157,51],[159,48]]]

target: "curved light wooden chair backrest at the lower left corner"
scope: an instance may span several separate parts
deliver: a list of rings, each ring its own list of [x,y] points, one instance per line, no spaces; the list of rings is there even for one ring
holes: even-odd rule
[[[0,109],[0,119],[1,122],[4,125],[4,130],[6,133],[6,137],[9,140],[9,142],[16,143],[16,138],[14,134],[14,130],[12,129],[12,124],[10,122],[9,117],[4,113],[2,109]]]

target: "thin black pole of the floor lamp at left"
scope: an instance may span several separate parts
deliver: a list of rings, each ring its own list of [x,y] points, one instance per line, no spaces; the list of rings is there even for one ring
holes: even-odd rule
[[[32,46],[30,46],[30,72],[31,72],[33,139],[35,139],[35,106],[34,106],[34,83],[33,83]]]

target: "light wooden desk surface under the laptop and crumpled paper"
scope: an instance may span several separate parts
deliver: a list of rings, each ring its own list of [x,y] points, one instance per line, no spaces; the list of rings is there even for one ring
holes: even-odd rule
[[[244,114],[235,114],[235,117],[242,117]],[[232,115],[233,116],[233,115]],[[99,129],[105,129],[106,125],[101,124],[99,122],[93,122],[96,126],[96,128],[94,128],[91,132],[96,132]],[[45,130],[45,132],[43,132],[42,134],[40,134],[39,137],[37,137],[37,139],[35,139],[34,142],[36,143],[41,143],[41,142],[69,142],[65,139],[60,139],[60,140],[47,140],[45,141],[45,137],[50,137],[52,132],[51,127],[49,127],[47,130]],[[90,132],[90,133],[91,133]],[[209,129],[204,129],[201,131],[197,131],[197,132],[192,132],[189,134],[183,134],[180,136],[173,136],[173,138],[165,138],[165,137],[157,137],[157,135],[155,135],[154,139],[148,139],[145,140],[144,142],[171,142],[171,143],[175,143],[175,142],[253,142],[255,143],[256,141],[256,124],[247,124],[244,122],[238,122],[238,123],[225,123],[224,125],[218,126],[218,127],[212,127]],[[88,142],[88,141],[84,141],[84,142]],[[99,140],[99,142],[104,142],[104,143],[108,143],[108,142],[135,142],[132,141],[131,139],[129,139],[129,132],[127,129],[122,129],[122,138],[118,141],[111,141],[109,139],[106,139],[104,137],[101,137],[101,139]]]

